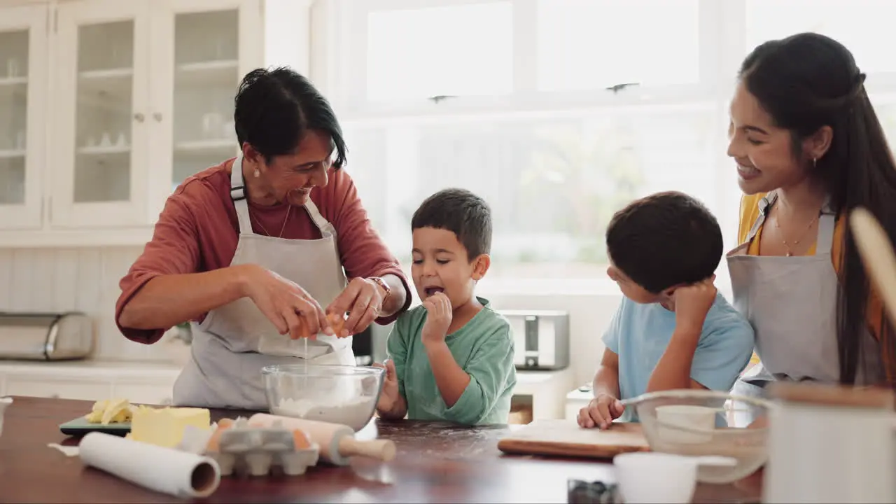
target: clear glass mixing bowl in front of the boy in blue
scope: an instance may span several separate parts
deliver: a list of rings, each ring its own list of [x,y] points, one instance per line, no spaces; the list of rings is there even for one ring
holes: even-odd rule
[[[625,401],[638,413],[650,450],[689,456],[728,456],[734,466],[701,465],[697,479],[735,482],[768,459],[768,418],[773,404],[712,390],[666,390]],[[628,407],[628,406],[627,406]]]

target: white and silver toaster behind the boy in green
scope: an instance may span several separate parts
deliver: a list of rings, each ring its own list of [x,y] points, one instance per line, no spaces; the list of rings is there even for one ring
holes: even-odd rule
[[[569,313],[561,310],[498,310],[513,329],[513,363],[521,370],[569,367]]]

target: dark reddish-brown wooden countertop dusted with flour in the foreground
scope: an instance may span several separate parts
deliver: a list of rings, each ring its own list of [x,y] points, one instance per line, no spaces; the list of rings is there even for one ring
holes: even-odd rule
[[[66,457],[47,443],[77,444],[58,424],[90,411],[90,401],[14,397],[0,436],[5,502],[182,502]],[[246,412],[212,410],[212,419]],[[509,426],[462,428],[442,422],[375,419],[359,433],[395,441],[390,463],[356,458],[317,465],[302,476],[224,478],[210,502],[566,502],[568,478],[613,480],[607,462],[503,456]],[[749,501],[731,486],[701,485],[700,502]],[[753,501],[757,501],[754,499]]]

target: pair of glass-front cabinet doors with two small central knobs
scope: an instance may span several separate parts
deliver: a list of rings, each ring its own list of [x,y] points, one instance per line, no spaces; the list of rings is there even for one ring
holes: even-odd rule
[[[236,155],[259,1],[59,4],[52,225],[150,225],[185,178]]]

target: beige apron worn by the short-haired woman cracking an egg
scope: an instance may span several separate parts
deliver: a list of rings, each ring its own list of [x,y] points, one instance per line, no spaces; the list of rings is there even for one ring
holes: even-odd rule
[[[243,184],[243,156],[231,168],[230,196],[237,209],[239,241],[230,265],[253,263],[296,282],[326,307],[346,286],[336,246],[336,230],[310,199],[305,210],[321,239],[280,239],[252,231]],[[292,212],[297,213],[298,209]],[[293,216],[295,218],[295,216]],[[192,323],[192,359],[174,386],[174,404],[267,410],[261,369],[270,364],[312,361],[355,365],[351,336],[318,335],[316,341],[280,335],[249,298],[211,310]]]

